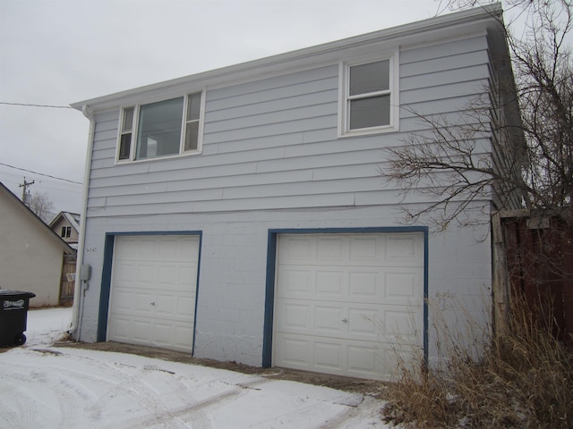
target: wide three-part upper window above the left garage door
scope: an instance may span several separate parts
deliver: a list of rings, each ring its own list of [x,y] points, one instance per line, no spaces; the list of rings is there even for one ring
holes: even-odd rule
[[[119,161],[201,152],[202,93],[124,107]]]

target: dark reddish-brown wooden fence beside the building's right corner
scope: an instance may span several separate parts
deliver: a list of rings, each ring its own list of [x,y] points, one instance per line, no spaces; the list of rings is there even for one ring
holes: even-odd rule
[[[523,298],[535,320],[573,343],[573,212],[499,212],[492,231],[496,324],[511,297]]]

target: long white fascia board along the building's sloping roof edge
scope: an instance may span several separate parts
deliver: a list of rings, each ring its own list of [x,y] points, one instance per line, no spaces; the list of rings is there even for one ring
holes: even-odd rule
[[[306,47],[285,54],[272,55],[247,63],[239,63],[212,71],[184,76],[174,80],[146,85],[104,97],[91,98],[73,103],[74,109],[86,109],[89,112],[102,112],[120,105],[140,102],[141,98],[175,97],[203,88],[221,88],[229,84],[258,80],[271,75],[284,74],[294,70],[304,70],[319,64],[338,63],[345,51],[367,49],[369,46],[384,44],[386,48],[396,48],[422,41],[454,38],[459,35],[475,33],[484,29],[500,29],[500,4],[470,9],[468,11],[449,13],[447,15],[416,21],[381,29],[372,33],[345,38],[326,44]],[[500,33],[501,35],[501,33]]]

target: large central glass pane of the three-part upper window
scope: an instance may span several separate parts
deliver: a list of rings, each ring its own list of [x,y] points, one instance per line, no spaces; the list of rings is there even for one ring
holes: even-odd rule
[[[179,153],[184,98],[141,105],[136,159]]]

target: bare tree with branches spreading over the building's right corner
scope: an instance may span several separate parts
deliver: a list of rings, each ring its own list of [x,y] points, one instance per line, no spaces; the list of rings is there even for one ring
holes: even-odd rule
[[[445,4],[458,10],[491,3]],[[515,81],[483,88],[453,122],[411,111],[426,130],[388,149],[389,165],[381,169],[382,176],[405,195],[433,196],[430,206],[406,209],[414,220],[427,215],[442,229],[454,220],[471,222],[468,212],[489,201],[498,208],[571,205],[573,1],[506,0],[504,5],[509,20],[495,18],[508,40]],[[500,110],[511,103],[517,103],[521,116],[508,121]]]

